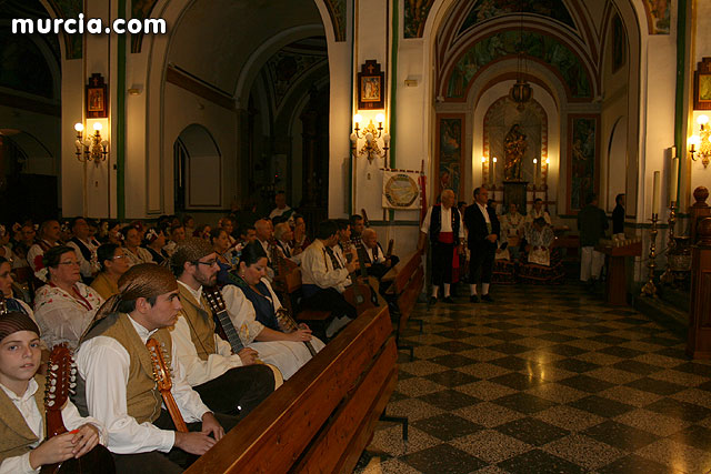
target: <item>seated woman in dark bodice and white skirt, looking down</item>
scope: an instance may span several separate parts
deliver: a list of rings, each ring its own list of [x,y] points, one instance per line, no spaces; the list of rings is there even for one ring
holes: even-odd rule
[[[267,274],[267,254],[259,242],[242,249],[239,276],[234,284],[222,289],[228,313],[242,342],[259,352],[262,361],[274,364],[284,379],[293,375],[311,360],[310,343],[314,351],[324,344],[311,335],[311,330],[300,327],[284,333],[278,312],[282,309],[279,297],[272,290]]]

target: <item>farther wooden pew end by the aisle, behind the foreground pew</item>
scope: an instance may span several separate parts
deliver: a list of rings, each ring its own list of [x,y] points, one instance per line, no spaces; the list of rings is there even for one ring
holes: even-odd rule
[[[414,309],[418,297],[424,286],[424,268],[422,266],[422,251],[414,251],[405,255],[397,265],[394,265],[380,280],[380,284],[390,283],[390,288],[385,291],[389,297],[394,297],[399,311],[398,325],[395,330],[395,341],[398,349],[410,351],[410,360],[413,359],[413,349],[408,345],[400,344],[402,331],[410,320],[410,314]],[[422,332],[422,321],[420,323],[420,332]]]

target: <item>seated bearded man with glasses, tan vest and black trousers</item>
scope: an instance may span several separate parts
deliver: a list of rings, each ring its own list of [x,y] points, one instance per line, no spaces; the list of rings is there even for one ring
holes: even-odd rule
[[[178,279],[182,310],[171,337],[188,383],[206,405],[242,417],[282,379],[276,369],[256,364],[257,351],[242,349],[234,354],[230,344],[216,334],[216,322],[202,290],[217,282],[217,259],[210,243],[202,239],[186,239],[176,248],[170,266]]]

